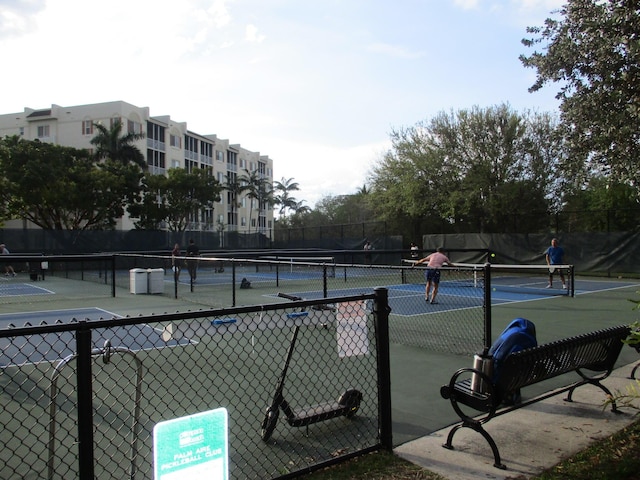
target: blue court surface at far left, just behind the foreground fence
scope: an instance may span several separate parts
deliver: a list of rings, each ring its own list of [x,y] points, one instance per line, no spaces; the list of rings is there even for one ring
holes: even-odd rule
[[[113,319],[119,316],[101,308],[79,308],[69,310],[44,310],[38,312],[5,313],[0,315],[0,328],[22,327],[26,325],[68,323],[72,320]],[[145,350],[159,347],[175,347],[192,343],[187,338],[175,340],[165,330],[150,325],[124,325],[99,328],[92,331],[94,349],[101,349],[109,340],[112,347],[130,350]],[[47,333],[20,337],[22,344],[11,338],[0,338],[0,367],[56,361],[75,353],[75,339],[71,332]]]

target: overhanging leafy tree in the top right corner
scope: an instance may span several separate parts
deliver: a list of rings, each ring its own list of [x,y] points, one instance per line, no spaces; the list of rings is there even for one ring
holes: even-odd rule
[[[592,172],[640,184],[640,10],[628,0],[569,0],[543,27],[529,27],[520,60],[537,71],[529,89],[558,83],[571,149],[570,178]]]

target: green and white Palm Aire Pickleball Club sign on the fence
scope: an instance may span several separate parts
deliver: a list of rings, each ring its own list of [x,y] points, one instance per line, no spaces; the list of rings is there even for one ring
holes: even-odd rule
[[[226,408],[167,420],[153,428],[155,480],[228,480]]]

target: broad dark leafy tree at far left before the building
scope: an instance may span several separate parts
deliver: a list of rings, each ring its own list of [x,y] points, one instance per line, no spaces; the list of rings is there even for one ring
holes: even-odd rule
[[[140,168],[96,164],[88,150],[8,137],[2,141],[3,200],[12,215],[52,231],[113,228],[137,197]],[[66,243],[64,235],[58,235]]]

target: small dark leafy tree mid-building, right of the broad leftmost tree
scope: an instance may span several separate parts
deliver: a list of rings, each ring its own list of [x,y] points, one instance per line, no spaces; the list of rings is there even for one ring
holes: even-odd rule
[[[222,189],[208,169],[172,168],[167,175],[147,173],[142,201],[129,208],[136,227],[156,229],[166,223],[172,232],[184,232],[193,217],[220,201]]]

